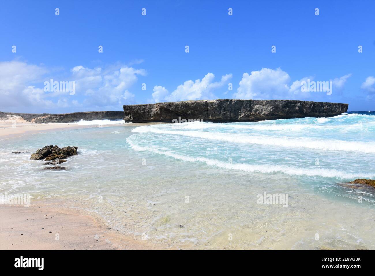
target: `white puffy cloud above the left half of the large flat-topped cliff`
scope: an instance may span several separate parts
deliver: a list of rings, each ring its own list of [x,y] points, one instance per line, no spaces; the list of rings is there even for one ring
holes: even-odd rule
[[[165,97],[165,100],[186,101],[216,98],[212,90],[223,86],[232,78],[232,74],[223,75],[218,82],[213,82],[214,78],[214,74],[207,73],[202,80],[187,80],[183,84],[177,86],[170,95]]]

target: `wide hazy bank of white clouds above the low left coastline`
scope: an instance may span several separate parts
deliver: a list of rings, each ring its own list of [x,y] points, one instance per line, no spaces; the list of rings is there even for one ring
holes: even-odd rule
[[[57,112],[69,107],[95,110],[97,108],[118,109],[135,95],[130,87],[138,76],[145,76],[144,69],[113,65],[87,68],[75,66],[65,77],[51,76],[43,66],[21,61],[0,62],[0,109],[22,112]],[[75,81],[75,94],[69,91],[44,90],[44,82]]]

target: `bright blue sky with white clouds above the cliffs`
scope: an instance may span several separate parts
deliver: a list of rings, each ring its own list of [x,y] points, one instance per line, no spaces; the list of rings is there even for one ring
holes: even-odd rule
[[[375,109],[374,1],[258,2],[2,2],[0,111],[122,110],[215,98]],[[45,91],[51,78],[75,81],[75,94]],[[332,95],[303,93],[307,78],[332,81]]]

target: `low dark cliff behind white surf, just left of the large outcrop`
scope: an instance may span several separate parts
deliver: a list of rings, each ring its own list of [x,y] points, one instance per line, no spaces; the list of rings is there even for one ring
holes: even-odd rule
[[[124,113],[121,111],[90,111],[90,112],[74,112],[64,114],[51,114],[39,116],[31,120],[34,123],[71,123],[80,120],[122,120]]]

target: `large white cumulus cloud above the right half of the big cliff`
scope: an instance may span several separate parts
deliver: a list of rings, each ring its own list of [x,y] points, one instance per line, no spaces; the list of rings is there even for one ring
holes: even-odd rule
[[[344,84],[350,76],[351,74],[347,74],[332,80],[336,92],[344,89]],[[309,98],[312,96],[311,92],[301,91],[302,82],[307,82],[308,79],[312,81],[314,77],[304,77],[290,85],[291,78],[287,72],[280,68],[262,68],[252,71],[251,74],[244,73],[233,96],[236,99],[253,100]]]

